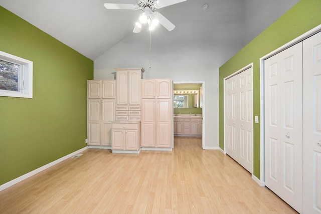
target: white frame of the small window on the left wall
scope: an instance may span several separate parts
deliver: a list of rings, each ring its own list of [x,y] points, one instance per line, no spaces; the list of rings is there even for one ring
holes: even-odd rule
[[[11,63],[21,65],[21,72],[18,74],[20,80],[18,80],[19,91],[1,90],[0,96],[4,97],[22,97],[32,98],[33,97],[33,62],[23,59],[21,57],[8,54],[0,51],[0,59]]]

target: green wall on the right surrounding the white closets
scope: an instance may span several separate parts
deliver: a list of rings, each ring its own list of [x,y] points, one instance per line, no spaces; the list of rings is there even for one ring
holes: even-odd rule
[[[219,70],[220,148],[224,148],[223,79],[253,62],[253,116],[260,115],[259,59],[321,24],[321,1],[301,0]],[[254,118],[254,117],[253,117]],[[260,124],[254,123],[254,175],[260,178]]]

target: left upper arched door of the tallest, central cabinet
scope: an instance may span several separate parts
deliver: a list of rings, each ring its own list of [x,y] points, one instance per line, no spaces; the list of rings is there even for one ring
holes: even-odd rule
[[[128,84],[127,84],[127,70],[116,71],[116,100],[117,105],[128,104]]]

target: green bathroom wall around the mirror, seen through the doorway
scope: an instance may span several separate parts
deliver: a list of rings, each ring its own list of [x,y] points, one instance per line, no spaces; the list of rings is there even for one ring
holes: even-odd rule
[[[200,90],[202,84],[174,84],[174,90]],[[201,95],[199,94],[199,106]],[[189,100],[190,105],[193,102]],[[174,108],[174,114],[202,114],[202,108]]]

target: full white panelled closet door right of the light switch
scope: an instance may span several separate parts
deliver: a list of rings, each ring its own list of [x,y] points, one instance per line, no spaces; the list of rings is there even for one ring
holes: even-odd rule
[[[302,212],[302,42],[264,62],[265,185]]]

